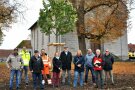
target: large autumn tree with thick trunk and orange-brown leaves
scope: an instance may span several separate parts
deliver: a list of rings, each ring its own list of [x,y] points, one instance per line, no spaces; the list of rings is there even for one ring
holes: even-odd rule
[[[70,1],[77,10],[78,42],[84,54],[86,53],[85,38],[104,43],[115,40],[126,32],[129,0]]]

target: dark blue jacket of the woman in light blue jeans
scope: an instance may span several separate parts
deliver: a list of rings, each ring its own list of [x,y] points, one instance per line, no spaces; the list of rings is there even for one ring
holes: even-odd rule
[[[85,60],[84,60],[84,56],[75,56],[74,57],[74,61],[73,61],[74,65],[75,65],[75,71],[78,72],[84,72],[84,64],[85,64]],[[77,65],[81,64],[81,67],[78,67]]]

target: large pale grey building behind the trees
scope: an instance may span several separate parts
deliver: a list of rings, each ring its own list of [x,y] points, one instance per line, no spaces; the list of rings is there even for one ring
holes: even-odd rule
[[[29,28],[29,30],[31,30],[32,50],[37,49],[40,51],[42,48],[44,48],[46,52],[48,52],[52,57],[56,49],[55,47],[48,47],[48,44],[56,42],[55,35],[45,35],[44,33],[41,33],[37,22],[35,22]],[[79,49],[77,33],[75,31],[59,36],[59,42],[66,43],[66,46],[69,47],[69,50],[73,53],[73,55],[75,55],[76,51]],[[94,48],[95,50],[96,47],[88,39],[86,39],[86,48]],[[127,33],[125,33],[125,35],[120,37],[118,40],[104,43],[101,45],[101,48],[102,51],[109,49],[111,53],[115,54],[123,60],[128,59]]]

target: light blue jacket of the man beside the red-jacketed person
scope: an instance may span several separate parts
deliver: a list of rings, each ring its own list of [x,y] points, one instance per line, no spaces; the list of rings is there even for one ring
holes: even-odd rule
[[[92,64],[92,59],[94,58],[95,54],[92,53],[92,54],[86,54],[85,56],[85,67],[88,66],[88,67],[93,67],[93,64]]]

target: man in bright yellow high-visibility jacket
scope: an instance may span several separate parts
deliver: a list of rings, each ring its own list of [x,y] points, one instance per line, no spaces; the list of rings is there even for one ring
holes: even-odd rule
[[[25,76],[25,84],[26,86],[28,86],[28,66],[29,66],[29,61],[30,61],[30,53],[29,51],[26,49],[26,47],[23,47],[22,50],[19,52],[19,55],[22,57],[23,62],[24,62],[24,67],[21,71],[21,75],[20,75],[20,83],[21,84],[21,79],[22,79],[22,74],[23,74],[23,70],[24,70],[24,76]]]

